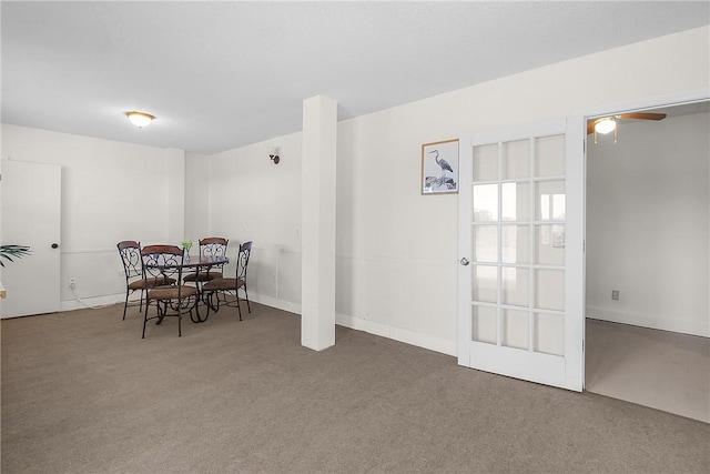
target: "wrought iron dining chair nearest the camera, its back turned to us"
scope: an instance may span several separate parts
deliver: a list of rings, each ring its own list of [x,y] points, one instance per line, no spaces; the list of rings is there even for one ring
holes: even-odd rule
[[[141,251],[145,274],[154,279],[182,281],[183,249],[176,245],[148,245]],[[145,300],[145,316],[143,317],[143,336],[148,320],[158,319],[155,324],[163,322],[166,316],[178,317],[178,335],[182,336],[182,315],[196,311],[199,292],[191,285],[165,285],[148,290]],[[155,315],[148,315],[151,303],[155,305]],[[172,311],[172,312],[171,312]]]

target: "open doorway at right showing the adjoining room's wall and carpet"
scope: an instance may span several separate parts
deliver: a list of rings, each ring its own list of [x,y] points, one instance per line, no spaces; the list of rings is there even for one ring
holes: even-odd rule
[[[709,105],[588,137],[586,178],[586,389],[704,422]]]

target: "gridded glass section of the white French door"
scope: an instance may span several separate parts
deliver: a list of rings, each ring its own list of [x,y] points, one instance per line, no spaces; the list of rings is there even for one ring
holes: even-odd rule
[[[475,147],[473,157],[473,341],[559,354],[565,137]]]

